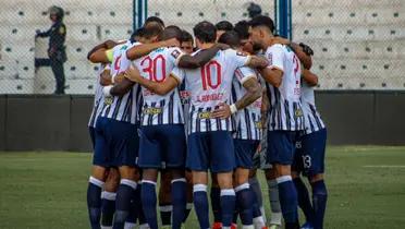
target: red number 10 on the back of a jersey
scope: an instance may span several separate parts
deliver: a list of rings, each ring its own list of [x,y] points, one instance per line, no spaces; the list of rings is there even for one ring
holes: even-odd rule
[[[201,82],[202,82],[202,89],[217,89],[219,85],[222,83],[222,67],[217,61],[210,61],[206,65],[201,68]],[[214,79],[212,81],[212,73]]]

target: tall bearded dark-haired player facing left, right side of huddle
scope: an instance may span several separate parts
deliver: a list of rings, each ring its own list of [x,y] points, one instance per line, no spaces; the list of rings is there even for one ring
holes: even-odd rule
[[[260,74],[267,82],[270,99],[267,159],[277,171],[281,210],[285,228],[299,228],[297,193],[292,181],[291,165],[296,136],[304,130],[300,104],[300,62],[284,45],[273,43],[274,24],[268,16],[250,21],[250,40],[266,51],[270,64]]]

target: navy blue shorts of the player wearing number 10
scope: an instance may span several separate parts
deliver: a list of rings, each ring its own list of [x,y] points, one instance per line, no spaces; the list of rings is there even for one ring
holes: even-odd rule
[[[230,172],[236,167],[233,138],[228,131],[188,135],[186,166],[194,171]]]

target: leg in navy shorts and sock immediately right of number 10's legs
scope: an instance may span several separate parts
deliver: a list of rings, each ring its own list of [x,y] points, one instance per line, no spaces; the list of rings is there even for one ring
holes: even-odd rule
[[[233,140],[236,157],[234,172],[234,186],[236,192],[237,209],[244,228],[253,228],[254,192],[248,182],[249,171],[253,168],[253,156],[259,141]],[[256,204],[256,208],[258,205]]]

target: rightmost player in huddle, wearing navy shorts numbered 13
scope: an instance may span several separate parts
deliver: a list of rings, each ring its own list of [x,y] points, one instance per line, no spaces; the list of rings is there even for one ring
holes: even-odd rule
[[[327,207],[328,191],[323,181],[327,129],[315,105],[314,87],[318,76],[307,69],[303,71],[302,104],[305,116],[305,130],[296,144],[297,153],[293,166],[294,183],[298,193],[298,204],[306,217],[305,229],[322,229]],[[312,203],[303,173],[312,189]]]

